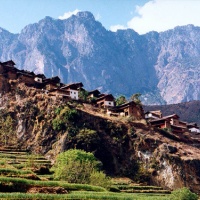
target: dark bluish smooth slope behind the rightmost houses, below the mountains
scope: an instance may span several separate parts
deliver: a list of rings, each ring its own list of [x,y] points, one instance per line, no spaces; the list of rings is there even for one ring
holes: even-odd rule
[[[145,112],[161,110],[164,116],[176,113],[181,120],[196,122],[200,126],[200,101],[190,101],[179,104],[143,106]]]

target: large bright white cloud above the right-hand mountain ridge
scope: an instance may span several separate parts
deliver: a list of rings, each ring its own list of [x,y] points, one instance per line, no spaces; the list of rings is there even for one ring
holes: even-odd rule
[[[138,16],[133,17],[127,27],[144,34],[187,24],[200,26],[199,8],[198,0],[152,0],[136,7]]]

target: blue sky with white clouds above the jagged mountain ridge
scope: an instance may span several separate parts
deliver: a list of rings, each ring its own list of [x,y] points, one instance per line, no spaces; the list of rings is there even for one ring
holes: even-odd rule
[[[46,16],[63,20],[79,11],[90,11],[111,31],[131,28],[145,34],[200,26],[200,0],[0,0],[0,27],[20,33]]]

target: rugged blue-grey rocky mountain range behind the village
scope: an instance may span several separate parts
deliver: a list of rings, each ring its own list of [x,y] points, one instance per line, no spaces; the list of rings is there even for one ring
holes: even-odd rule
[[[9,59],[87,90],[141,93],[144,104],[200,100],[200,28],[193,25],[139,35],[108,31],[90,12],[46,17],[20,34],[0,29],[0,60]]]

